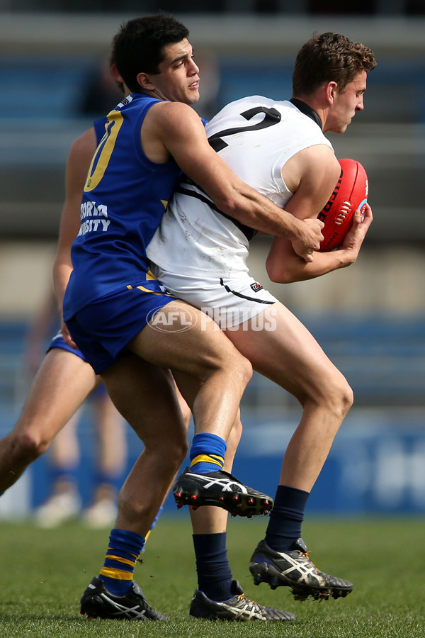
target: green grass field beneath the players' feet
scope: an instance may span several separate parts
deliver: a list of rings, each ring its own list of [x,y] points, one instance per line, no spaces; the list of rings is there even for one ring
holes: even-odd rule
[[[290,610],[296,622],[188,620],[196,587],[188,513],[159,521],[135,578],[149,604],[169,622],[87,620],[79,597],[103,564],[108,530],[69,524],[58,530],[0,524],[0,636],[215,638],[424,638],[425,520],[416,518],[310,520],[303,536],[320,569],[354,583],[347,598],[304,603],[288,588],[254,586],[249,557],[266,520],[229,520],[228,549],[234,576],[246,595]]]

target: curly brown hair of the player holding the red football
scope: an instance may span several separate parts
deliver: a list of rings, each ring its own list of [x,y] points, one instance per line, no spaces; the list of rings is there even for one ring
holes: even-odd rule
[[[296,57],[293,70],[293,96],[309,96],[322,84],[336,82],[339,92],[361,71],[376,66],[373,51],[338,33],[314,33]]]

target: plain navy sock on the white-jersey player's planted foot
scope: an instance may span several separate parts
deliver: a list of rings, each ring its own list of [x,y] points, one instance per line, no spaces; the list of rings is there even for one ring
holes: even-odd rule
[[[232,598],[232,571],[227,560],[226,532],[194,534],[198,589],[208,598],[223,602]]]

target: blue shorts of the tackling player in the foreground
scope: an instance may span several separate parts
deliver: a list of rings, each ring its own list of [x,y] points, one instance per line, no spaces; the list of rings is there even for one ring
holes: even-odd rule
[[[96,374],[128,354],[126,345],[176,297],[157,279],[126,286],[89,303],[67,320],[72,338]]]

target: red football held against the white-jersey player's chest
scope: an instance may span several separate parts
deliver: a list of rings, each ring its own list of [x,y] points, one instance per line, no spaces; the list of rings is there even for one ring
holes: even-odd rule
[[[354,211],[359,210],[363,218],[368,201],[369,183],[365,169],[356,159],[340,159],[341,175],[334,192],[317,218],[324,222],[319,252],[329,252],[341,246],[351,228]]]

